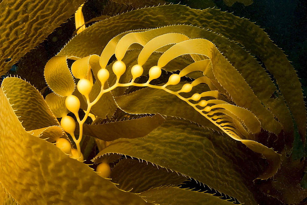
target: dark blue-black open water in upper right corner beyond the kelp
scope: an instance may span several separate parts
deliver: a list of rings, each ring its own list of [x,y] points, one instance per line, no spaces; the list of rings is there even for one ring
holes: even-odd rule
[[[168,2],[187,5],[194,9],[206,9],[207,0],[168,0]],[[281,48],[297,71],[304,100],[307,95],[307,0],[254,0],[249,6],[236,2],[226,6],[223,0],[214,0],[222,11],[233,12],[235,16],[245,17],[255,22]]]

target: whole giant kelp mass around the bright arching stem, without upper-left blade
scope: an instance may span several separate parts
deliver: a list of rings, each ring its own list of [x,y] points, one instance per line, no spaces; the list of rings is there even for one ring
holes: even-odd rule
[[[305,141],[300,83],[246,19],[180,5],[133,10],[77,34],[45,79],[45,99],[17,77],[0,91],[0,182],[18,203],[231,203],[178,188],[187,178],[246,204],[307,195],[305,160],[287,157],[292,117]],[[93,142],[99,153],[89,158]],[[83,157],[100,163],[100,176]]]

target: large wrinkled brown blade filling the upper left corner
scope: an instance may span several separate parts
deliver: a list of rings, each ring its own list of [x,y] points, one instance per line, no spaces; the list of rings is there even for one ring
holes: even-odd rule
[[[83,3],[83,0],[1,1],[0,76],[71,17]],[[11,60],[6,62],[8,58]]]

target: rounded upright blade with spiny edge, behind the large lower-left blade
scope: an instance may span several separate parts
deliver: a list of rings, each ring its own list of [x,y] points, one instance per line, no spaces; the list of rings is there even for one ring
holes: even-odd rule
[[[60,125],[43,96],[26,81],[16,77],[6,78],[2,88],[25,130]]]

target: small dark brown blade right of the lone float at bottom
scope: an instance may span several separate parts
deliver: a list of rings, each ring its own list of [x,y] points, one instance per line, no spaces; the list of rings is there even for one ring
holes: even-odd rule
[[[187,177],[169,169],[138,159],[121,159],[112,169],[111,181],[118,184],[117,187],[140,193],[151,188],[161,186],[177,186],[182,184]]]

